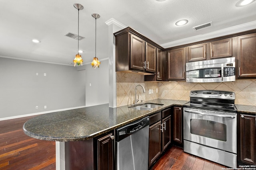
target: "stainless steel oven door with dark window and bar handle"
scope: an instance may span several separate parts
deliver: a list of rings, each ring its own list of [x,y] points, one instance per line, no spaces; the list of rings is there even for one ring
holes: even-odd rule
[[[237,153],[236,113],[184,108],[184,140]]]

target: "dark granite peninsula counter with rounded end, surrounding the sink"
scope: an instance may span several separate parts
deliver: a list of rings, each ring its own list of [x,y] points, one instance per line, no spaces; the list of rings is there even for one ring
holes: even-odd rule
[[[24,123],[23,131],[30,137],[47,141],[88,140],[170,106],[183,106],[188,101],[156,99],[146,102],[163,105],[151,111],[128,108],[128,105],[112,108],[103,104],[46,113]]]

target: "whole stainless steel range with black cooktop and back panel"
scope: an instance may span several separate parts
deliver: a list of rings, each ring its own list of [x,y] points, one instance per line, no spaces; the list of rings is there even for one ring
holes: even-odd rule
[[[237,110],[234,92],[190,92],[184,105],[184,152],[237,167]]]

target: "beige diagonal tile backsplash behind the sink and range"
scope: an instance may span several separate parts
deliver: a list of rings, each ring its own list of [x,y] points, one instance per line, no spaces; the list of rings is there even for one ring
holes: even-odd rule
[[[137,88],[139,100],[161,98],[189,101],[189,93],[191,90],[221,90],[235,92],[235,104],[256,105],[256,79],[245,79],[236,80],[235,82],[220,83],[188,83],[184,81],[144,82],[144,75],[116,72],[117,106],[124,106],[134,103],[134,90],[138,84],[144,86],[146,90],[146,93],[143,93],[141,87]],[[152,94],[148,93],[149,89],[153,89]],[[156,89],[158,89],[158,93],[156,93]]]

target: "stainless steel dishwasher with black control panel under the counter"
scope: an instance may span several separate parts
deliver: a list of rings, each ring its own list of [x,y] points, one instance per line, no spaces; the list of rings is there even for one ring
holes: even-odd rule
[[[116,129],[116,169],[148,170],[149,117]]]

